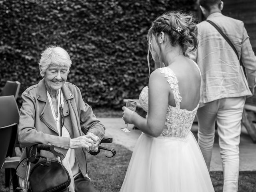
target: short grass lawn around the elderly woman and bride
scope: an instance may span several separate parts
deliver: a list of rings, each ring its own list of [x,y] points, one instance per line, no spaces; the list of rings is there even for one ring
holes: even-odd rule
[[[94,110],[94,109],[93,109]],[[120,117],[122,110],[94,110],[97,117]],[[118,144],[103,144],[116,150],[116,156],[106,158],[102,150],[97,156],[87,155],[89,176],[98,192],[119,192],[132,152]],[[215,192],[222,192],[222,172],[210,172]],[[11,190],[12,191],[12,190]],[[4,188],[4,170],[0,172],[0,192],[8,192]],[[256,192],[256,172],[240,172],[238,192]]]

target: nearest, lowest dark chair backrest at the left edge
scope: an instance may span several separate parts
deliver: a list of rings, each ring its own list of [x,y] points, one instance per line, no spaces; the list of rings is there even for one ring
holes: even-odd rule
[[[5,158],[11,156],[17,134],[17,124],[0,127],[0,170]]]

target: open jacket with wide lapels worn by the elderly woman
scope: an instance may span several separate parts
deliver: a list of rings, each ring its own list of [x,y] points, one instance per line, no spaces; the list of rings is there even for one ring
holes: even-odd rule
[[[84,103],[81,92],[74,84],[66,82],[61,88],[64,95],[64,126],[67,128],[70,137],[76,138],[88,132],[104,138],[105,127],[94,116],[92,108]],[[20,147],[30,147],[34,144],[53,144],[54,154],[41,151],[41,155],[56,160],[57,156],[64,158],[68,151],[70,138],[60,137],[50,102],[47,98],[44,79],[34,86],[29,87],[22,93],[22,107],[20,108],[20,122],[18,126],[18,140]],[[83,176],[86,175],[86,152],[84,148],[75,149],[76,160]],[[24,159],[25,158],[25,159]],[[26,150],[23,151],[17,169],[17,175],[25,178],[26,173]],[[33,167],[34,165],[32,165]]]

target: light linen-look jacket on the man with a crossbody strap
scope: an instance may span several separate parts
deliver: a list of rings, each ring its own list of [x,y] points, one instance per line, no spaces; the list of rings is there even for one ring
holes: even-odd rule
[[[228,42],[210,23],[200,22],[197,24],[198,48],[189,54],[202,73],[200,102],[252,95],[248,85],[250,87],[256,85],[256,57],[244,23],[221,13],[210,14],[207,19],[214,22],[228,36],[236,47],[239,57],[242,56],[247,80]]]

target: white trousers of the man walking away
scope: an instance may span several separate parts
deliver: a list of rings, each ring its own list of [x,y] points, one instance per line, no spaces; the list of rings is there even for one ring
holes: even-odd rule
[[[239,142],[245,97],[222,98],[198,108],[198,144],[210,171],[215,122],[218,126],[222,158],[223,192],[237,192],[239,176]]]

